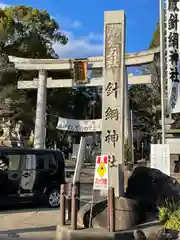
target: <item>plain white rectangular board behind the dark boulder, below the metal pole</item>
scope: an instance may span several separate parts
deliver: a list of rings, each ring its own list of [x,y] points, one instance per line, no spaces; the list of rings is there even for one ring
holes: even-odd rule
[[[169,144],[151,144],[151,168],[156,168],[170,176]]]

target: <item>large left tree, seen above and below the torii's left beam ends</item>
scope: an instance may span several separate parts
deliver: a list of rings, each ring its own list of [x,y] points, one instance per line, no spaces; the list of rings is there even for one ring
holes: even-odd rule
[[[66,44],[67,37],[45,10],[15,6],[0,9],[0,53],[25,58],[57,58],[53,43]],[[37,72],[0,72],[0,102],[11,99],[18,118],[32,125],[36,91],[18,90],[19,79],[33,79]],[[31,109],[31,111],[29,111]]]

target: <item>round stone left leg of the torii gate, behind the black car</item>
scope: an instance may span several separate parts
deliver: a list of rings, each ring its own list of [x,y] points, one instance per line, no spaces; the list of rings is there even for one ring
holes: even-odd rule
[[[34,148],[44,148],[46,137],[47,72],[39,70]]]

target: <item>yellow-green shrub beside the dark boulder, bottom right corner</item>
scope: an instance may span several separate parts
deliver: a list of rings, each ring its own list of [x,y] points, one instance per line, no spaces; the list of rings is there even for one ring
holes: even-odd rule
[[[165,228],[180,231],[180,202],[166,202],[159,208],[158,218]]]

